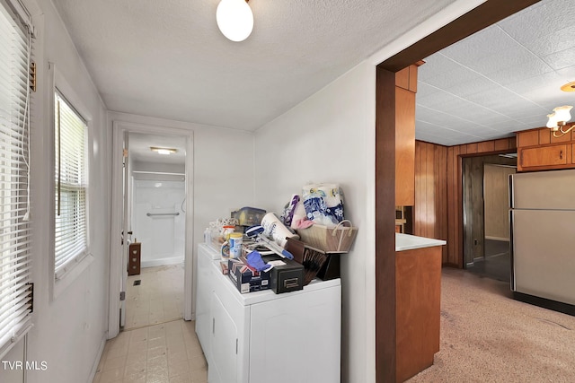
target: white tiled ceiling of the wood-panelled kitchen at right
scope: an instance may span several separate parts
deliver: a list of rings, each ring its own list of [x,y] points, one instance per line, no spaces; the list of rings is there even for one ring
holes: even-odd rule
[[[416,136],[453,145],[545,126],[575,81],[575,2],[542,0],[420,66]]]

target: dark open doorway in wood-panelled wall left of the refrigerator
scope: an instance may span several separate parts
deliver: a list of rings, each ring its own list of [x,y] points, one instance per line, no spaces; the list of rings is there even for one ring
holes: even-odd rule
[[[508,283],[509,174],[516,171],[515,154],[462,159],[464,268]]]

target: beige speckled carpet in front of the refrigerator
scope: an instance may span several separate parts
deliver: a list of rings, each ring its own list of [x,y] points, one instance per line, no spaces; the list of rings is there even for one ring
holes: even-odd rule
[[[410,383],[575,382],[575,317],[463,270],[444,269],[441,288],[440,352]]]

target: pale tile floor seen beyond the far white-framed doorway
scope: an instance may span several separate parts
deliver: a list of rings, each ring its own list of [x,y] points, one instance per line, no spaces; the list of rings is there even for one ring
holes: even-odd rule
[[[183,264],[142,268],[140,274],[128,276],[124,329],[183,318],[182,302]]]

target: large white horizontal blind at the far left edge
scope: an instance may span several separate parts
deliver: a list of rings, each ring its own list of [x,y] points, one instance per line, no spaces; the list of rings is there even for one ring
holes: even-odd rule
[[[31,326],[28,125],[31,38],[0,3],[0,358]]]

